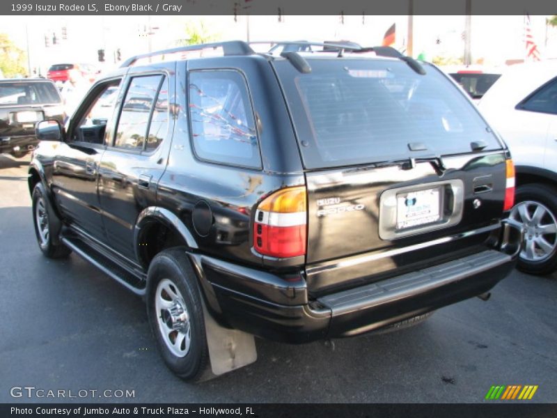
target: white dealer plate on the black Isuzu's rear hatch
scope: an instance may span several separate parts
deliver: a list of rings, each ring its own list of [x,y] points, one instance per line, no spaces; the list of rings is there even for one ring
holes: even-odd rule
[[[437,222],[441,207],[439,196],[439,187],[397,194],[396,229]]]

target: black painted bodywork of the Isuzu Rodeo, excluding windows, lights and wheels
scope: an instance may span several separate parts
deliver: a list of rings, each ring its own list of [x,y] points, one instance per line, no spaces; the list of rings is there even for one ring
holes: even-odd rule
[[[70,119],[65,141],[41,143],[31,161],[30,189],[36,181],[45,185],[64,224],[61,240],[139,295],[148,288],[150,259],[180,246],[219,324],[292,343],[384,327],[485,293],[510,272],[521,233],[501,224],[509,157],[503,145],[456,155],[420,153],[425,160],[409,150],[405,161],[304,169],[299,147],[307,132],[293,123],[272,60],[259,54],[182,59],[123,68],[99,80],[97,88],[122,80],[104,142],[72,142],[78,121]],[[226,113],[221,102],[191,116],[189,77],[209,70],[233,70],[245,80],[256,125],[249,144],[260,152],[260,167],[196,154],[198,121],[191,119],[204,117],[218,128]],[[152,74],[168,79],[168,135],[149,152],[146,146],[118,147],[130,79]],[[147,102],[138,97],[134,109],[152,118]],[[306,191],[307,208],[295,213],[303,222],[296,226],[306,224],[306,254],[262,256],[253,249],[256,210],[267,196],[294,186]],[[429,189],[438,190],[439,220],[401,228],[384,221],[396,215],[392,204],[385,212],[389,199],[411,201],[407,196]],[[400,290],[396,297],[389,296],[393,288]]]

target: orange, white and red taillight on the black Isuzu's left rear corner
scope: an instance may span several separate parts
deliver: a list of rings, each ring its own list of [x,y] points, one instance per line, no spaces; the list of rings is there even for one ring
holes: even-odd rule
[[[288,187],[263,200],[253,224],[253,247],[277,258],[306,254],[306,187]]]

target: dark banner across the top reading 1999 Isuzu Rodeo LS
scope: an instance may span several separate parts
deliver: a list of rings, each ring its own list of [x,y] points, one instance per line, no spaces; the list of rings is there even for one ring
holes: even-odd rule
[[[466,0],[5,0],[1,15],[464,15]],[[471,0],[472,15],[555,15],[554,0]]]

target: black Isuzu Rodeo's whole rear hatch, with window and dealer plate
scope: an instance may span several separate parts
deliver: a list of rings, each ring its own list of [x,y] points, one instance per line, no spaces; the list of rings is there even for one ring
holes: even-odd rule
[[[503,212],[505,149],[462,92],[432,65],[307,61],[307,73],[273,65],[306,169],[310,291],[483,249]]]

